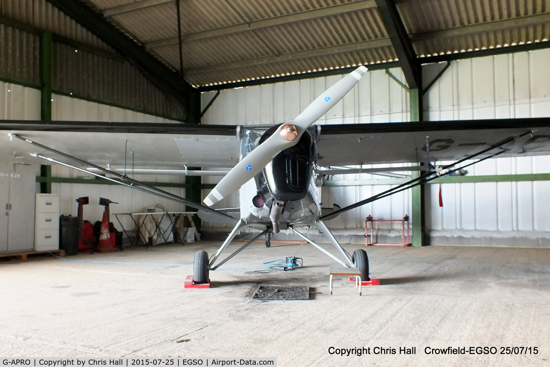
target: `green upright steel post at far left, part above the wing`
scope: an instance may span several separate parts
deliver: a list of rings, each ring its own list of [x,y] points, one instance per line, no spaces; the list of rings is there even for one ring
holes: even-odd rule
[[[52,33],[40,34],[40,119],[52,120]]]

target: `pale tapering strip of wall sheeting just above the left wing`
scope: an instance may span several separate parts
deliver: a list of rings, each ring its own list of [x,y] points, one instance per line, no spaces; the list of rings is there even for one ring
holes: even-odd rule
[[[40,92],[39,92],[40,93]],[[52,120],[64,121],[119,121],[119,122],[175,122],[167,118],[103,105],[80,98],[52,94]],[[40,100],[39,100],[40,101]],[[38,102],[40,106],[40,102]],[[38,118],[40,119],[40,111]]]

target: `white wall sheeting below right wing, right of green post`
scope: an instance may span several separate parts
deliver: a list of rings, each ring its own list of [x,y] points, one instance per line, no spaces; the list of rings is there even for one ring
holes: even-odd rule
[[[550,156],[498,158],[468,168],[472,175],[550,173]],[[428,227],[436,231],[550,231],[550,182],[430,185]]]

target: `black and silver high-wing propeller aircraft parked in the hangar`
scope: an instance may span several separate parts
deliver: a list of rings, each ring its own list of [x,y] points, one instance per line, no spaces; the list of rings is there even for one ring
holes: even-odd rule
[[[271,127],[0,120],[0,131],[5,133],[0,134],[0,154],[24,157],[21,161],[27,164],[47,160],[195,207],[199,216],[208,221],[215,222],[213,218],[218,217],[236,222],[215,254],[209,257],[202,250],[195,254],[195,283],[208,282],[211,270],[216,270],[262,235],[266,235],[268,246],[272,233],[281,229],[292,231],[339,264],[357,267],[365,281],[369,279],[366,251],[357,249],[349,254],[328,229],[326,220],[488,158],[550,155],[550,118],[315,125],[366,72],[364,66],[355,69],[313,100],[298,117]],[[130,177],[127,143],[135,152],[136,166],[185,167],[136,172],[225,176],[204,199],[206,206],[198,204]],[[450,163],[434,164],[444,161]],[[417,165],[362,168],[362,165],[381,163]],[[123,173],[121,168],[109,169],[109,165],[124,165]],[[188,170],[188,166],[232,169],[221,173]],[[419,174],[405,184],[355,204],[343,208],[322,207],[321,185],[326,176],[396,171]],[[238,210],[211,207],[235,190],[239,190]],[[247,226],[262,226],[265,230],[216,264],[235,235]],[[320,229],[342,259],[300,233],[297,229],[300,226]]]

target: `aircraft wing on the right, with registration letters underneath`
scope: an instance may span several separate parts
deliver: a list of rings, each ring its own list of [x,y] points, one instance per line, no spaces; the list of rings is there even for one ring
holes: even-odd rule
[[[530,131],[499,157],[550,155],[550,118],[322,125],[317,149],[324,167],[426,162],[428,136],[431,161],[454,161]]]

